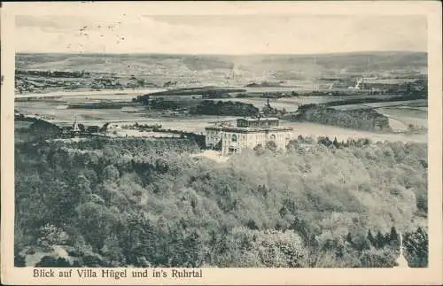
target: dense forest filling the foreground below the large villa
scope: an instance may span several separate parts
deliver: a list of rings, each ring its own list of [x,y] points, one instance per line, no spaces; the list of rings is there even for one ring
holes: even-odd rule
[[[393,267],[400,234],[428,264],[425,144],[299,136],[217,163],[193,139],[25,139],[16,267]]]

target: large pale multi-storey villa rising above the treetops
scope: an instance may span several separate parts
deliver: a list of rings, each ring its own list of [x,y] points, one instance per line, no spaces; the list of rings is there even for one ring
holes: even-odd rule
[[[244,118],[237,124],[224,121],[206,128],[206,148],[221,149],[222,156],[239,153],[258,145],[275,143],[276,149],[286,148],[292,128],[282,128],[277,118]]]

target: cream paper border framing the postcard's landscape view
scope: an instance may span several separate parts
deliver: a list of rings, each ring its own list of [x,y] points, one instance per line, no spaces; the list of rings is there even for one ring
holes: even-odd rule
[[[13,267],[13,84],[14,15],[116,13],[149,15],[366,14],[426,15],[429,73],[429,237],[430,267],[425,269],[204,269],[203,279],[51,279],[33,278],[32,268]],[[441,284],[442,277],[442,88],[440,2],[145,2],[3,3],[2,74],[2,283],[6,284]]]

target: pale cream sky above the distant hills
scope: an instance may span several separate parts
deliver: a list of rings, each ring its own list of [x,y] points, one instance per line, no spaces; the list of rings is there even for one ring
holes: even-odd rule
[[[424,16],[16,16],[17,52],[316,54],[427,50]]]

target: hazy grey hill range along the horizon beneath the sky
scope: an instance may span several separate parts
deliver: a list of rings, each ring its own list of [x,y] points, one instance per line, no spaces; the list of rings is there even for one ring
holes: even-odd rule
[[[161,55],[161,54],[17,54],[17,69],[82,71],[96,73],[239,73],[310,71],[373,72],[426,70],[424,52],[355,52],[320,55]]]

